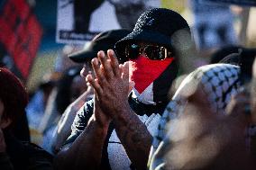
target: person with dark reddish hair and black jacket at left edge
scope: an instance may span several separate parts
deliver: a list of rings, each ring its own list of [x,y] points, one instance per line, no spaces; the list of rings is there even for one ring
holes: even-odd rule
[[[13,127],[25,114],[28,95],[21,81],[0,68],[0,169],[52,169],[50,154],[14,137]]]

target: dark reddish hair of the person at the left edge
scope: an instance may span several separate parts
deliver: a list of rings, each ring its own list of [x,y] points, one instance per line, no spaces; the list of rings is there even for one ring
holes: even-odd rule
[[[28,94],[21,80],[5,67],[0,67],[0,99],[5,105],[4,118],[14,122],[24,114]]]

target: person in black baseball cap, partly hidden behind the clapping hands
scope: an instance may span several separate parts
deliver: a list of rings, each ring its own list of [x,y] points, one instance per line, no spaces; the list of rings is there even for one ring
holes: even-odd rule
[[[88,72],[91,72],[93,69],[91,67],[90,60],[96,57],[98,50],[103,49],[113,49],[114,44],[117,40],[122,39],[130,31],[127,30],[112,30],[102,32],[96,37],[87,43],[84,49],[74,52],[69,55],[69,58],[80,64],[84,64],[83,69],[81,70],[81,76],[84,74],[87,75]],[[85,82],[83,82],[85,85]],[[58,128],[54,131],[54,137],[52,140],[52,151],[57,153],[59,148],[64,144],[64,141],[68,139],[71,134],[71,125],[77,115],[78,110],[89,100],[93,98],[93,90],[90,85],[87,86],[87,90],[80,95],[74,103],[69,104],[69,107],[63,113],[59,120]]]

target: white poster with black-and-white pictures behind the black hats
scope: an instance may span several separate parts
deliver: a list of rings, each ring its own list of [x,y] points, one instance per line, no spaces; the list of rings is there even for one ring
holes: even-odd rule
[[[160,7],[160,0],[58,0],[56,40],[84,44],[97,33],[132,30],[146,10]]]

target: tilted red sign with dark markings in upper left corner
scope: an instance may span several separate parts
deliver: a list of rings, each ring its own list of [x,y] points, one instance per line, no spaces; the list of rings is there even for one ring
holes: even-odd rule
[[[26,79],[40,45],[41,25],[25,0],[7,0],[0,25],[0,42]]]

